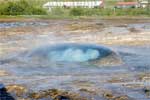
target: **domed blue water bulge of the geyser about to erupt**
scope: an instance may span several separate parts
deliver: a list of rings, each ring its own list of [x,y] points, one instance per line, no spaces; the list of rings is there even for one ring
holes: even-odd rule
[[[94,62],[103,64],[120,63],[118,55],[109,48],[92,44],[57,44],[40,47],[28,57],[44,58],[50,62]]]

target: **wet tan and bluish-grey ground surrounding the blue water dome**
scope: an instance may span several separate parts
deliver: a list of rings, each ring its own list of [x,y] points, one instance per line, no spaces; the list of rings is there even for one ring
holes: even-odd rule
[[[21,27],[18,24],[0,25],[0,83],[3,84],[0,85],[0,100],[149,100],[150,19],[0,19],[0,23],[13,22],[31,24],[23,23]],[[94,70],[93,73],[89,68],[87,73],[81,69],[80,74],[63,73],[54,77],[41,73],[24,76],[24,73],[20,74],[22,70],[19,73],[13,68],[24,67],[25,63],[5,60],[54,43],[105,45],[123,52],[122,58],[129,64],[112,67],[110,71],[109,68],[98,69],[106,72]],[[130,54],[133,58],[128,57]],[[135,63],[139,65],[132,69],[129,65]],[[55,83],[57,80],[60,84]]]

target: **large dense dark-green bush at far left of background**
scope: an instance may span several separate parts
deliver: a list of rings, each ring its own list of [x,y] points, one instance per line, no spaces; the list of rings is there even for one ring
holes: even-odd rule
[[[0,15],[45,15],[46,10],[27,0],[8,1],[0,4]]]

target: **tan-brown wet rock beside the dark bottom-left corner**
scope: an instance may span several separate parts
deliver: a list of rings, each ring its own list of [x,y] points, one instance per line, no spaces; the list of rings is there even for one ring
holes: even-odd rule
[[[21,85],[8,85],[6,89],[9,93],[15,94],[18,97],[21,97],[27,93],[27,89]]]

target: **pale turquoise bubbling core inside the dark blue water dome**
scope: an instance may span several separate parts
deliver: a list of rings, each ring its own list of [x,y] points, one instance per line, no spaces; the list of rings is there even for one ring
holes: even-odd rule
[[[51,61],[85,62],[98,59],[100,53],[95,49],[83,51],[80,48],[68,48],[65,50],[50,51],[48,59]]]

